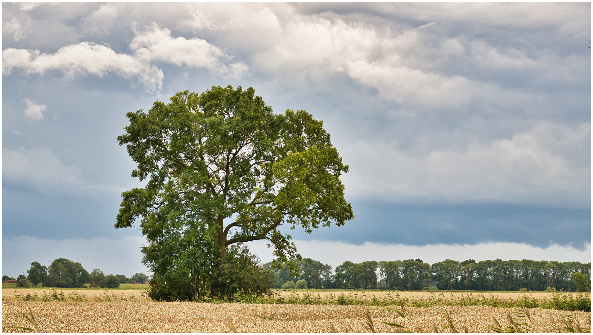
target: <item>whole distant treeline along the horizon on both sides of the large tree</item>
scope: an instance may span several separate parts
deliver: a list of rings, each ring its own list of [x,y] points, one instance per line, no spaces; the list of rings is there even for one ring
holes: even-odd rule
[[[254,256],[254,255],[252,255]],[[272,262],[263,264],[269,271],[274,288],[315,289],[390,289],[422,290],[429,286],[439,290],[476,291],[590,291],[591,263],[578,261],[534,260],[444,260],[428,264],[420,259],[396,261],[345,261],[332,272],[332,266],[310,258],[291,260],[298,273],[283,264],[282,270],[272,269]],[[241,266],[245,269],[245,266]],[[120,283],[148,282],[144,273],[132,277],[104,275],[100,269],[88,273],[81,263],[56,259],[49,267],[31,263],[28,276],[19,275],[17,286],[56,288],[92,287],[115,288]],[[2,277],[2,282],[14,279]],[[296,284],[295,284],[296,283]]]

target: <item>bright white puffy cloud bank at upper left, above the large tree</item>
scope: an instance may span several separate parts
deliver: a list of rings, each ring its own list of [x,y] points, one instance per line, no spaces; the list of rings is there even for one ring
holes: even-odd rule
[[[161,90],[164,75],[154,62],[206,68],[214,74],[234,77],[248,71],[243,62],[225,65],[231,57],[205,40],[173,38],[170,30],[157,24],[136,31],[130,49],[134,55],[116,53],[109,46],[92,42],[70,44],[55,53],[7,48],[2,50],[2,74],[10,75],[15,69],[26,75],[59,71],[66,77],[87,74],[104,77],[113,73],[123,78],[138,78],[147,92],[155,92]]]

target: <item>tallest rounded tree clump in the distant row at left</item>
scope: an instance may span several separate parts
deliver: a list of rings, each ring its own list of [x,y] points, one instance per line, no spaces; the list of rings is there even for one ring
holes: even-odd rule
[[[56,288],[84,288],[90,277],[80,263],[69,259],[56,259],[48,269],[43,286]]]

